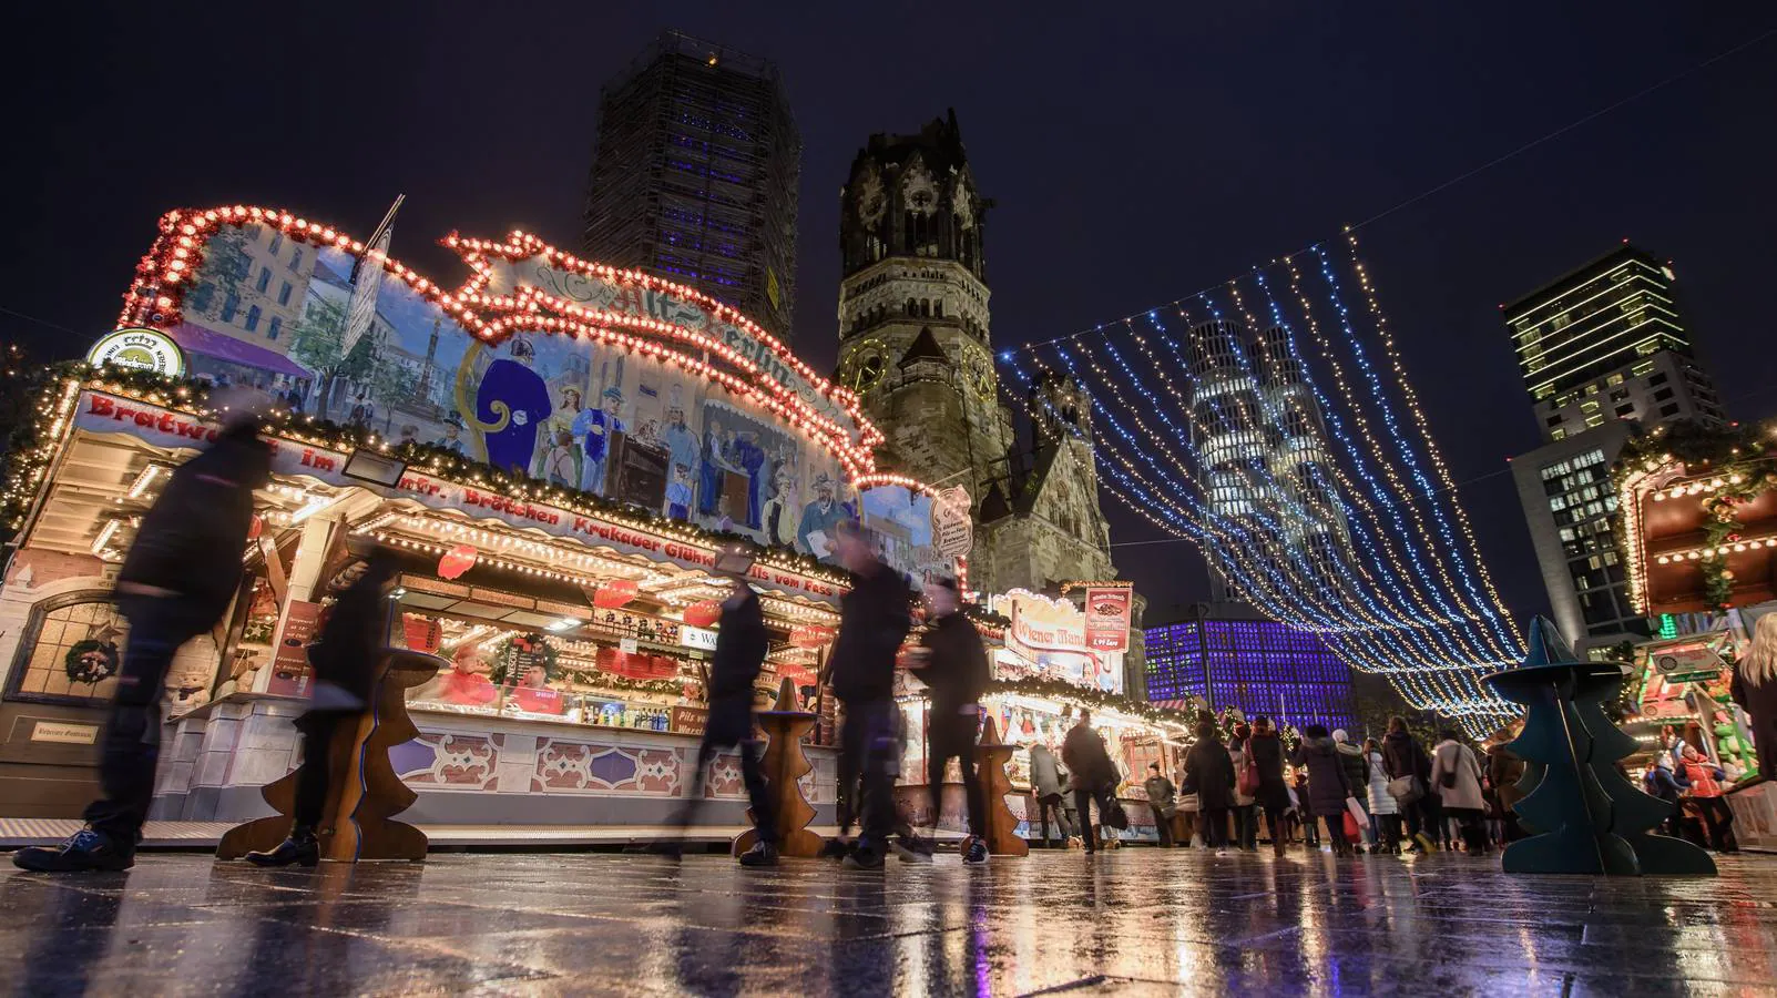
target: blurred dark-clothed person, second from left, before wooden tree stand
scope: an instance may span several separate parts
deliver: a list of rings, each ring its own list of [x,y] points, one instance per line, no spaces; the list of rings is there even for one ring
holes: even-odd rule
[[[327,610],[320,639],[309,646],[315,699],[297,719],[302,733],[302,765],[297,767],[297,804],[290,836],[265,852],[249,852],[254,866],[315,866],[320,861],[316,831],[327,808],[332,777],[332,740],[341,724],[355,722],[370,704],[377,660],[387,640],[389,584],[400,567],[387,548],[368,551],[364,569]]]

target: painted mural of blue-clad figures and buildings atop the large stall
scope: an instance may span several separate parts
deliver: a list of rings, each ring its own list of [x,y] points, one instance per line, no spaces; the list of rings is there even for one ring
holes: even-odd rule
[[[174,336],[211,350],[194,370],[219,384],[823,559],[858,514],[826,448],[656,358],[551,333],[489,343],[402,281],[348,347],[350,254],[258,224],[204,253]]]

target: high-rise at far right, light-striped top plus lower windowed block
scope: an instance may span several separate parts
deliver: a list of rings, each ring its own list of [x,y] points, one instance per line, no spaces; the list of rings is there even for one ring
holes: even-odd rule
[[[1580,651],[1651,633],[1617,555],[1610,466],[1624,443],[1660,423],[1725,422],[1674,283],[1670,265],[1624,242],[1500,306],[1548,441],[1512,459],[1512,479],[1555,623]]]

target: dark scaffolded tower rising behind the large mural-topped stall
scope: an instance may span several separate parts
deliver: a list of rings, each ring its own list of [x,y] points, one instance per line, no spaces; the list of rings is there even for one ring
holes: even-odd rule
[[[599,94],[585,254],[693,286],[787,340],[800,178],[777,66],[668,30]]]

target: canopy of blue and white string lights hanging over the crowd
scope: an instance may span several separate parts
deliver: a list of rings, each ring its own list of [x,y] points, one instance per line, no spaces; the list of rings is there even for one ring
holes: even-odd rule
[[[1196,543],[1240,598],[1471,735],[1518,713],[1480,680],[1521,660],[1523,639],[1356,233],[1000,365],[1050,425],[1068,422],[1036,388],[1072,379],[1100,482]]]

